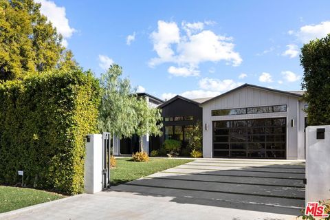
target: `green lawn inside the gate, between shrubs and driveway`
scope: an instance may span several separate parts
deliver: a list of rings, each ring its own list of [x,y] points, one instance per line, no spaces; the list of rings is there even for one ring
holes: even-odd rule
[[[149,162],[131,162],[129,158],[117,158],[117,166],[111,168],[111,185],[126,183],[192,161],[193,159],[150,158]]]

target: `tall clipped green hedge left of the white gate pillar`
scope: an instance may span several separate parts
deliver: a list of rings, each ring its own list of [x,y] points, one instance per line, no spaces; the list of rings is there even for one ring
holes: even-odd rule
[[[100,87],[90,72],[0,84],[0,184],[83,192],[85,135],[97,132]]]

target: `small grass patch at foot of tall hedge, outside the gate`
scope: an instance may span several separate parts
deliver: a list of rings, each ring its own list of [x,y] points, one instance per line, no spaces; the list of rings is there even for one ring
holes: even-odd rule
[[[65,196],[54,192],[34,190],[32,188],[0,186],[0,213],[63,197]]]

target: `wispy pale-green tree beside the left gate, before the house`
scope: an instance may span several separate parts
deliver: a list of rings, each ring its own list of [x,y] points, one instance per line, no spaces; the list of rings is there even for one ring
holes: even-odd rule
[[[129,79],[121,76],[122,67],[113,64],[100,78],[99,129],[118,137],[139,135],[142,147],[143,135],[161,134],[160,109],[149,107],[145,98],[137,97]]]

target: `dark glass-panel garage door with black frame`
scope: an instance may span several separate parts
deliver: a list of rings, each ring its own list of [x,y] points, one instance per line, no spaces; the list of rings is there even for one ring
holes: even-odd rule
[[[213,157],[286,157],[286,118],[213,122]]]

